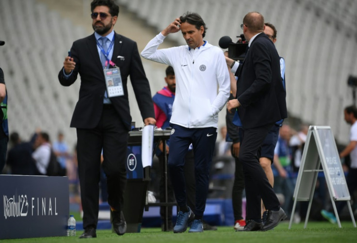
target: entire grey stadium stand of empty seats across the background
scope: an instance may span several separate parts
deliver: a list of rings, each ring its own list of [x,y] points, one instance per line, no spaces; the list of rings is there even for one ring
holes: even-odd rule
[[[357,76],[357,0],[117,0],[119,22],[128,23],[117,32],[138,42],[139,51],[175,17],[198,12],[208,26],[206,39],[218,46],[228,35],[237,41],[239,26],[249,11],[259,11],[275,24],[276,47],[286,60],[289,114],[314,125],[330,125],[341,143],[348,141],[343,121],[344,106],[353,102],[349,75]],[[50,133],[65,132],[70,145],[76,133],[69,128],[78,99],[80,82],[59,85],[57,73],[67,50],[76,39],[90,33],[91,21],[64,17],[65,7],[76,6],[78,15],[88,14],[88,0],[56,3],[52,0],[1,0],[0,66],[9,94],[10,131],[26,138],[36,127]],[[62,7],[59,5],[63,5]],[[128,17],[129,16],[129,17]],[[84,22],[84,23],[83,23]],[[118,24],[119,25],[119,24]],[[130,28],[129,28],[130,27]],[[149,27],[149,28],[148,28]],[[169,45],[184,45],[180,34],[169,35]],[[164,66],[143,61],[151,91],[163,85]],[[130,90],[131,113],[141,125],[140,113]],[[225,111],[220,114],[224,124]]]

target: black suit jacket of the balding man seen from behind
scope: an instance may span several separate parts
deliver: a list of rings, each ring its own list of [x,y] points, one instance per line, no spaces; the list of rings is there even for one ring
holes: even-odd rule
[[[260,127],[287,117],[279,55],[268,36],[256,36],[235,75],[243,128]]]

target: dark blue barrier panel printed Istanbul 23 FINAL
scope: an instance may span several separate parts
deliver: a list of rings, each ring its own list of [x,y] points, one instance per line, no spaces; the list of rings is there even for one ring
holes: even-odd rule
[[[65,236],[67,177],[0,175],[0,239]]]

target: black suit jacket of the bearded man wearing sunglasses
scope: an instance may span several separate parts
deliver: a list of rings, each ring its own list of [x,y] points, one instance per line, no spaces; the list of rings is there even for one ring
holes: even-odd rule
[[[71,56],[76,62],[72,75],[65,79],[63,68],[58,78],[63,86],[73,84],[78,74],[81,76],[79,100],[73,112],[71,127],[91,129],[97,126],[106,90],[103,68],[97,51],[94,33],[77,40],[71,48]],[[124,57],[117,58],[118,56]],[[127,81],[130,81],[143,119],[155,117],[154,106],[148,80],[145,75],[136,42],[115,33],[112,61],[120,68],[124,95],[110,98],[124,126],[130,130],[131,116],[128,100]]]

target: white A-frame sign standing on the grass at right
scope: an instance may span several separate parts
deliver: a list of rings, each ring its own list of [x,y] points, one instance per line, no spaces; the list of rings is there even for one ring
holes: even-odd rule
[[[320,165],[322,166],[322,169],[320,169]],[[356,227],[355,218],[351,208],[351,197],[348,192],[340,156],[337,151],[331,127],[310,126],[294,190],[294,204],[292,206],[292,216],[289,223],[289,229],[292,227],[296,201],[309,201],[304,228],[307,227],[317,175],[320,171],[324,172],[328,192],[330,194],[332,206],[335,211],[339,227],[341,228],[341,222],[337,213],[335,201],[347,202],[353,225]]]

